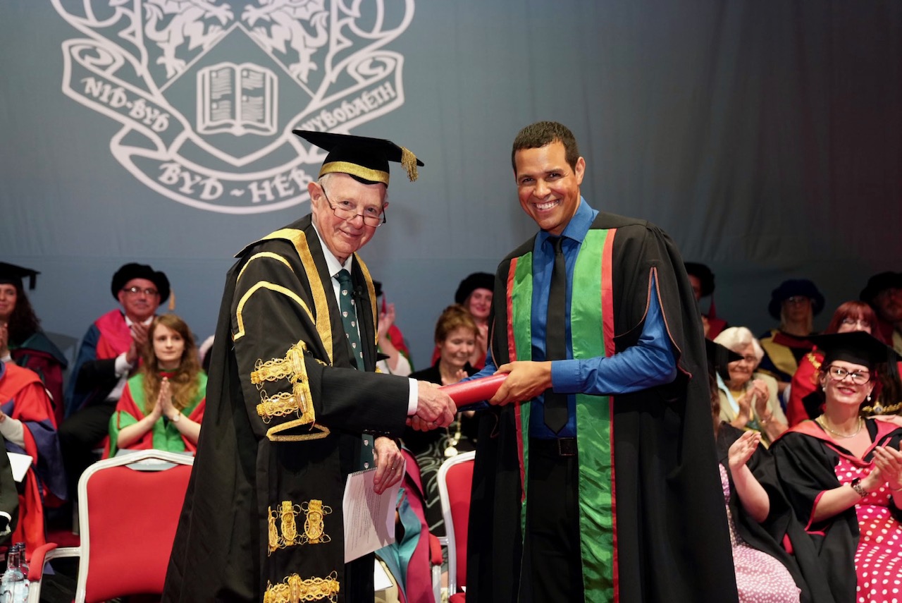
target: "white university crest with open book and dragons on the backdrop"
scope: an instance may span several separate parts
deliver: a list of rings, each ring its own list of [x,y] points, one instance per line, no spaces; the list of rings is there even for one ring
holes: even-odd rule
[[[126,170],[195,208],[307,200],[323,155],[291,130],[347,134],[404,103],[385,46],[414,0],[51,2],[84,36],[62,44],[63,92],[122,125]]]

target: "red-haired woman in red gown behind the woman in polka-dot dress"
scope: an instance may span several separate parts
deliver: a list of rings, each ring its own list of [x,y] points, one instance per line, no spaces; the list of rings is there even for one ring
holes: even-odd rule
[[[824,330],[824,335],[834,333],[850,333],[861,330],[865,333],[877,335],[877,317],[870,306],[865,302],[845,302],[833,312],[830,324]],[[879,336],[878,336],[878,339]],[[814,419],[822,412],[824,395],[818,387],[818,375],[821,365],[824,363],[824,353],[817,348],[802,357],[798,363],[796,374],[792,378],[792,387],[789,390],[789,402],[787,403],[787,419],[789,426],[797,425],[805,419]],[[895,399],[899,396],[899,385],[890,382],[898,382],[898,371],[881,373],[881,381],[886,382],[879,392],[875,392],[879,406],[879,414],[892,404],[899,402]],[[885,412],[894,413],[898,409],[889,409]]]

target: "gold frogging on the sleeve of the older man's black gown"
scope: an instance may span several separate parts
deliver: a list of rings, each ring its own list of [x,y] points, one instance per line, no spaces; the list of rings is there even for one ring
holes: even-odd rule
[[[263,362],[258,359],[251,371],[251,383],[260,390],[260,404],[257,404],[257,414],[260,415],[264,423],[269,424],[272,417],[282,417],[291,413],[295,413],[298,419],[280,423],[271,427],[266,431],[266,437],[271,441],[302,441],[302,440],[318,440],[325,438],[329,431],[326,427],[316,424],[316,413],[313,410],[313,404],[310,396],[310,385],[307,380],[307,366],[304,364],[304,352],[307,351],[307,344],[303,340],[294,344],[285,352],[285,357],[272,358]],[[279,392],[278,394],[269,395],[263,388],[266,382],[280,381],[288,379],[291,384],[290,392]],[[317,432],[300,434],[300,435],[283,435],[278,436],[276,433],[299,427],[300,425],[310,425],[311,428],[316,427]]]

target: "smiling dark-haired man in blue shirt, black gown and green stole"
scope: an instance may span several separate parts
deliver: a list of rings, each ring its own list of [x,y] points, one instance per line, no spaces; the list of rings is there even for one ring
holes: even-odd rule
[[[480,375],[508,376],[480,422],[467,601],[736,601],[676,247],[589,206],[566,126],[527,126],[511,161],[539,231],[495,276]]]

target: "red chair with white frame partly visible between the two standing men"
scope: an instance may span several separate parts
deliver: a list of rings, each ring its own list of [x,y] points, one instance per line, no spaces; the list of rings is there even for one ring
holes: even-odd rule
[[[475,452],[464,452],[447,459],[438,468],[438,496],[447,534],[449,603],[465,600],[464,593],[457,590],[466,587],[466,530],[475,456]]]

